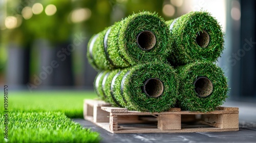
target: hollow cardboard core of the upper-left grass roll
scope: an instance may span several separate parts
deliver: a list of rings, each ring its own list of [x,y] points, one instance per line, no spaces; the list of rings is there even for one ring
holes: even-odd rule
[[[156,44],[156,36],[151,31],[142,31],[137,36],[137,44],[142,50],[151,50]]]

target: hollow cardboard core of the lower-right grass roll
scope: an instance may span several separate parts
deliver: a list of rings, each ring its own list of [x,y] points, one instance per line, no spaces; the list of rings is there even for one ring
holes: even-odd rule
[[[207,77],[199,77],[195,81],[195,91],[199,97],[207,97],[210,96],[214,86],[212,82]]]

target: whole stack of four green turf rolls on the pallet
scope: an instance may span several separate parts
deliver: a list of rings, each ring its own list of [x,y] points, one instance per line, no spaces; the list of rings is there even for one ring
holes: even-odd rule
[[[170,21],[150,12],[130,15],[88,43],[98,97],[137,111],[214,110],[227,98],[227,79],[214,63],[223,35],[204,11]]]

